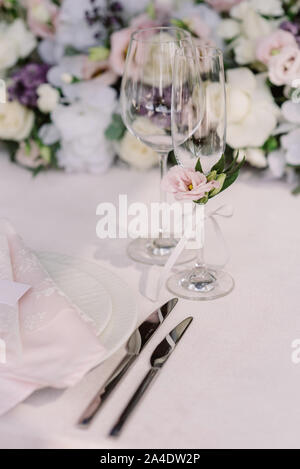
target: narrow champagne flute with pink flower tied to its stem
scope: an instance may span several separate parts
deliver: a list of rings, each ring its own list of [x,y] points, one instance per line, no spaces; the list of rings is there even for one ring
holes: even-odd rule
[[[205,95],[198,98],[203,87]],[[219,49],[183,47],[175,54],[172,95],[172,138],[177,161],[195,168],[200,159],[207,175],[226,145],[226,92],[223,55]],[[172,293],[191,300],[211,300],[228,294],[234,287],[232,277],[207,266],[204,261],[204,204],[200,212],[198,239],[201,247],[193,268],[177,272],[168,279]]]

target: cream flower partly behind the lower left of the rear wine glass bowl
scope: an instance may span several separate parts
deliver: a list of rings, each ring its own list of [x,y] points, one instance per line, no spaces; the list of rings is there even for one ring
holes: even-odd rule
[[[140,117],[136,119],[133,125],[133,131],[136,131],[137,134],[141,132],[143,132],[144,135],[147,133],[151,134],[153,133],[154,127],[155,132],[157,132],[157,128],[154,124],[148,119]],[[159,131],[163,133],[161,129],[159,129]],[[123,161],[126,161],[137,169],[149,169],[158,163],[158,154],[128,131],[125,132],[121,140],[118,147],[118,154]]]

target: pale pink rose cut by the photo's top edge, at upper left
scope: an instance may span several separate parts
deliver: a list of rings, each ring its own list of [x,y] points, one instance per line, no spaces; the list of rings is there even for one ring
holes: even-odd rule
[[[59,8],[51,0],[27,0],[27,22],[39,37],[53,37],[56,31]]]

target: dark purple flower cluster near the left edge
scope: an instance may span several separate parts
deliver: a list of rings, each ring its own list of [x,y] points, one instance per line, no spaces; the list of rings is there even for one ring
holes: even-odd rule
[[[47,82],[49,66],[30,63],[13,74],[13,84],[8,88],[9,99],[17,100],[24,106],[34,108],[37,105],[37,88]]]

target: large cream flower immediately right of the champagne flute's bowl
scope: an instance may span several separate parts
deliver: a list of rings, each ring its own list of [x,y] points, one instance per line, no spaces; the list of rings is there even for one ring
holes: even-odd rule
[[[265,79],[247,68],[227,72],[227,142],[232,148],[260,147],[276,127],[279,109]]]

